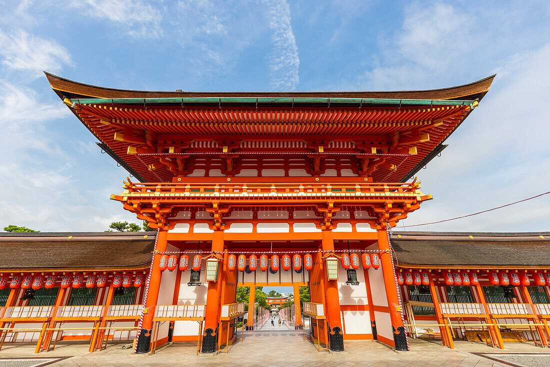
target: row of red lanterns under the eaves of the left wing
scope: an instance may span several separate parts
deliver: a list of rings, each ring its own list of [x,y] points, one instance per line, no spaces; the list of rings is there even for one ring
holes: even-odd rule
[[[107,284],[107,275],[106,274],[98,274],[96,275],[89,275],[86,278],[86,282],[84,282],[84,275],[83,274],[65,274],[61,276],[61,279],[59,276],[56,275],[14,275],[12,279],[8,282],[7,276],[0,276],[0,289],[4,289],[8,287],[11,289],[40,289],[43,287],[45,288],[53,288],[58,280],[61,280],[61,284],[59,284],[59,287],[61,288],[80,288],[83,285],[85,285],[86,288],[103,288]],[[128,288],[131,285],[138,288],[144,285],[145,283],[145,274],[136,274],[134,277],[133,273],[115,273],[113,274],[113,287],[119,288],[124,287]]]

